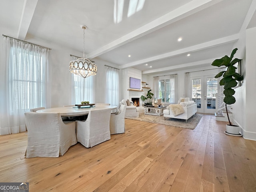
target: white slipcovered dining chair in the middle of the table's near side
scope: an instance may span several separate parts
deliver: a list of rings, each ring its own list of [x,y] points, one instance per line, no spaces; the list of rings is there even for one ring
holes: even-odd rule
[[[110,140],[109,109],[90,110],[85,121],[76,120],[76,138],[83,146],[89,148]]]

